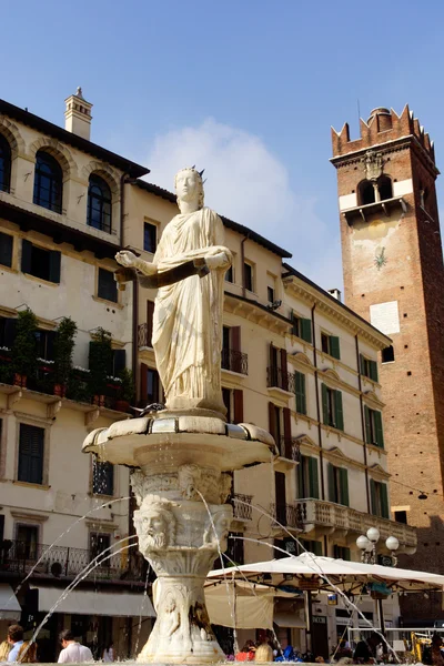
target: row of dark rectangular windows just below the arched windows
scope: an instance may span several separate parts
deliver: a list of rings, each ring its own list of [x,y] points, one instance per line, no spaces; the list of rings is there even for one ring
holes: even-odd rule
[[[12,234],[0,232],[0,264],[9,269],[13,261],[13,239]],[[22,273],[60,284],[61,256],[58,250],[47,250],[23,239],[20,268]],[[118,302],[118,287],[112,271],[99,269],[98,296],[112,303]]]

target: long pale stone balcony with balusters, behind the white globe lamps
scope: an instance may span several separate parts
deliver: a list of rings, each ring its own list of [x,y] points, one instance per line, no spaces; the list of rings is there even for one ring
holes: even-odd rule
[[[365,534],[369,527],[377,527],[381,538],[395,536],[401,548],[414,553],[417,545],[416,531],[403,523],[373,516],[349,506],[323,502],[321,500],[297,500],[297,515],[306,533],[315,532],[315,536],[342,532],[350,535],[353,543],[357,535]]]

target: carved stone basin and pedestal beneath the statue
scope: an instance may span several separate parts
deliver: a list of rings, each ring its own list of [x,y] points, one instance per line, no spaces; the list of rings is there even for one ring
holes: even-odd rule
[[[270,462],[273,437],[251,424],[159,412],[93,431],[83,451],[137,468],[131,485],[139,548],[158,575],[158,619],[138,662],[220,662],[203,584],[228,545],[233,509],[225,504],[232,484],[226,472]]]

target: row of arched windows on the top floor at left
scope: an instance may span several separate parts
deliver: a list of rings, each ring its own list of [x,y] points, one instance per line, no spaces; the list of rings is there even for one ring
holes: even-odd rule
[[[9,192],[11,184],[11,149],[0,134],[0,190]],[[62,212],[63,171],[59,162],[44,150],[36,154],[33,203],[54,213]],[[88,185],[87,224],[111,233],[111,190],[92,173]]]

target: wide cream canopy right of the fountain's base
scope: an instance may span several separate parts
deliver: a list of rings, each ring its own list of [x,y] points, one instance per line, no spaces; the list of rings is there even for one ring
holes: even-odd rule
[[[321,557],[312,553],[243,564],[236,568],[214,569],[208,579],[224,578],[225,576],[248,578],[252,582],[263,581],[275,587],[284,586],[290,589],[326,589],[335,591],[335,586],[356,593],[363,585],[385,585],[389,592],[420,592],[427,589],[444,589],[444,576],[427,572],[402,569],[379,564],[362,564],[345,562],[332,557]]]

